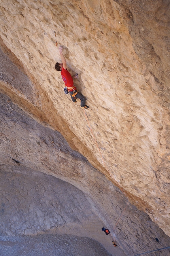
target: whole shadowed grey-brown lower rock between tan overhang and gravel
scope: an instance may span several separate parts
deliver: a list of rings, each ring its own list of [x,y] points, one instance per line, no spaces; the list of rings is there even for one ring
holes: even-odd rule
[[[170,244],[170,237],[59,132],[30,118],[6,95],[0,103],[0,235],[89,237],[112,256]]]

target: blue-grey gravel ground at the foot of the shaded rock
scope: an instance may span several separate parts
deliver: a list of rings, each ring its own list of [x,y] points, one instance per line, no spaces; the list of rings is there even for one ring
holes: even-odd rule
[[[110,256],[88,237],[43,234],[0,237],[0,256]]]

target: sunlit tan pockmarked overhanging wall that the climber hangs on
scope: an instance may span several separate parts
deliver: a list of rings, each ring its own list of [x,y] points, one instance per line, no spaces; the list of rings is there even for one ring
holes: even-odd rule
[[[0,2],[2,49],[30,79],[27,87],[15,84],[12,72],[2,75],[1,90],[60,131],[167,235],[169,13],[168,0]],[[70,72],[79,74],[75,84],[87,97],[87,116],[63,93],[54,69],[56,40]]]

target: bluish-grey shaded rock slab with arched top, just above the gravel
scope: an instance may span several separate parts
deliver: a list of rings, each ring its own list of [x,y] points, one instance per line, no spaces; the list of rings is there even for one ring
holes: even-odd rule
[[[1,229],[1,235],[32,235],[49,230],[55,232],[58,227],[69,224],[74,229],[74,223],[81,226],[83,220],[89,226],[99,221],[84,193],[67,182],[25,170],[22,166],[11,170],[8,167],[8,172],[2,171],[1,167],[0,176],[0,190],[4,197],[1,202],[1,223],[4,228]],[[101,223],[100,227],[103,225]]]

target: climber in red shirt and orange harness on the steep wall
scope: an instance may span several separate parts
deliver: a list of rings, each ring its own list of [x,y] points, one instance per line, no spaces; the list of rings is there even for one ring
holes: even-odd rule
[[[85,97],[81,93],[79,93],[77,91],[77,88],[76,88],[76,86],[74,85],[74,82],[73,82],[73,78],[78,78],[78,74],[76,74],[72,78],[70,72],[68,72],[68,70],[66,68],[66,59],[65,59],[64,55],[62,54],[62,50],[63,50],[63,47],[60,46],[59,47],[59,53],[60,53],[60,57],[61,57],[62,63],[58,63],[57,62],[55,64],[55,69],[57,71],[61,72],[62,80],[64,81],[65,86],[68,89],[68,93],[70,93],[70,95],[71,95],[72,101],[74,103],[76,103],[77,102],[77,98],[80,99],[80,101],[81,101],[81,108],[86,108],[87,109],[87,108],[89,108],[89,106],[87,106],[85,104]]]

